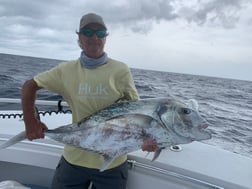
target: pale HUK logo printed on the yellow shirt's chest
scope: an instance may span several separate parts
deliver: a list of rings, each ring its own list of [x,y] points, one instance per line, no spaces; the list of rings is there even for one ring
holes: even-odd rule
[[[89,83],[80,83],[78,95],[87,98],[106,98],[108,95],[107,87],[102,83],[98,85],[90,85]]]

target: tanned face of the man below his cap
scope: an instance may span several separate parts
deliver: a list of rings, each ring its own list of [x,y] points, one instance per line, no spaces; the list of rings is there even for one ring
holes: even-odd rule
[[[79,41],[81,43],[81,46],[85,55],[90,58],[101,57],[104,53],[104,45],[106,42],[107,35],[105,35],[104,37],[101,37],[102,35],[99,36],[99,34],[102,33],[102,31],[100,30],[104,30],[104,28],[99,24],[88,24],[87,26],[85,26],[85,29],[86,29],[85,33],[87,35],[85,35],[82,32],[83,30],[81,30],[79,33]],[[98,34],[97,34],[97,31],[98,31]],[[92,34],[92,33],[93,35],[90,36],[89,34]]]

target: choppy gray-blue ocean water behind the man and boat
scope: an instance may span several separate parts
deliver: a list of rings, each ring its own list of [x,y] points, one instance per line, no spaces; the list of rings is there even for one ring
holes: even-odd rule
[[[25,80],[60,60],[0,54],[0,98],[20,98]],[[233,79],[131,69],[141,98],[172,96],[195,99],[210,123],[213,138],[204,143],[252,158],[252,82]],[[38,99],[60,96],[39,91]],[[1,104],[0,109],[18,109]]]

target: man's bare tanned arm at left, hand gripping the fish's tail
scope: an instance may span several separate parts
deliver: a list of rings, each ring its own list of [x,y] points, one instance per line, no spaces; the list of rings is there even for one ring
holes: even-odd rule
[[[41,87],[33,79],[27,80],[22,87],[22,108],[26,137],[29,140],[44,138],[44,130],[47,129],[46,125],[35,116],[34,104],[39,89]]]

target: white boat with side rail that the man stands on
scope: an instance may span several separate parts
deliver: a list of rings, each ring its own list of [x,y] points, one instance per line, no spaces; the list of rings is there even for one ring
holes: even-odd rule
[[[3,102],[20,100],[1,98]],[[58,102],[36,104],[57,106]],[[24,130],[21,115],[20,110],[0,111],[0,144]],[[46,114],[41,120],[55,128],[70,123],[71,114]],[[1,150],[0,183],[13,180],[34,189],[49,188],[62,149],[62,144],[45,138]],[[246,156],[201,142],[163,150],[154,162],[151,156],[142,151],[128,155],[128,189],[252,189],[252,158]]]

